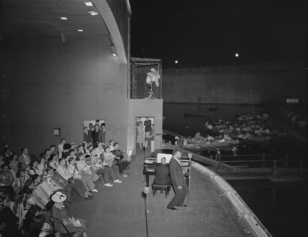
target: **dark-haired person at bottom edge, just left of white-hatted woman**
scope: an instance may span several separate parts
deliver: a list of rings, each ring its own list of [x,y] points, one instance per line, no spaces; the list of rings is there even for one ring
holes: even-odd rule
[[[29,236],[31,237],[55,237],[52,227],[45,222],[44,215],[33,216],[30,224]]]

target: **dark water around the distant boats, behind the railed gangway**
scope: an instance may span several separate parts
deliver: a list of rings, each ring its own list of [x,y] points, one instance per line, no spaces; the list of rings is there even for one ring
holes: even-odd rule
[[[215,111],[208,111],[211,106],[217,106]],[[198,105],[198,104],[172,104],[164,103],[163,116],[165,120],[163,128],[168,131],[175,132],[183,136],[194,137],[196,132],[201,132],[205,135],[206,132],[202,130],[202,125],[206,121],[211,120],[225,120],[231,121],[235,119],[236,115],[247,115],[249,111],[248,105]],[[185,113],[190,114],[206,114],[209,117],[185,117]],[[262,113],[263,110],[259,106],[254,106],[255,114]],[[174,142],[174,137],[164,136],[164,140]],[[242,144],[237,145],[237,154],[296,154],[307,155],[307,149],[303,148],[297,141],[290,138],[274,138],[267,144]],[[232,147],[220,148],[221,155],[234,155],[231,150]],[[216,152],[203,151],[201,154],[209,156],[215,155]]]

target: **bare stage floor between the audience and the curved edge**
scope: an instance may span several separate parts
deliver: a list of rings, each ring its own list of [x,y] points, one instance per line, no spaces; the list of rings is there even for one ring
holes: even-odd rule
[[[147,151],[146,156],[150,154]],[[113,187],[97,185],[91,201],[72,198],[71,214],[87,221],[89,237],[103,236],[147,236],[146,196],[144,194],[143,151],[132,156],[133,173]],[[153,176],[150,176],[150,184]],[[200,171],[192,169],[190,177],[189,207],[170,211],[167,204],[174,196],[171,190],[168,198],[152,191],[148,195],[149,236],[252,236],[240,219],[236,217],[230,202],[222,191]],[[187,204],[187,198],[185,203]],[[200,219],[202,218],[202,219]]]

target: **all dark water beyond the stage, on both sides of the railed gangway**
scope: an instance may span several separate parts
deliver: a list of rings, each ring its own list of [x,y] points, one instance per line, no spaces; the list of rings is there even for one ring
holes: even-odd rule
[[[210,106],[218,110],[208,111]],[[232,120],[236,115],[247,115],[249,107],[245,105],[197,105],[164,103],[163,128],[184,136],[195,136],[202,130],[206,120]],[[254,107],[255,114],[262,112]],[[206,114],[210,117],[184,117],[185,113]],[[164,140],[174,141],[171,136]],[[307,157],[307,148],[290,138],[272,139],[267,144],[244,144],[236,146],[236,154],[289,154]],[[200,152],[205,156],[216,152]],[[230,148],[221,151],[221,155],[234,155]],[[234,156],[235,157],[235,156]],[[235,157],[236,159],[236,157]],[[291,158],[292,159],[292,158]],[[307,236],[307,182],[279,182],[269,180],[228,181],[240,194],[244,202],[257,215],[262,224],[273,236]]]

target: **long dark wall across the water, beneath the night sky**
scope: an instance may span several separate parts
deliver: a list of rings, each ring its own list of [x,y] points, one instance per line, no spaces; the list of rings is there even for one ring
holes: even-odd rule
[[[307,101],[307,65],[265,65],[163,70],[164,102],[248,104]]]

